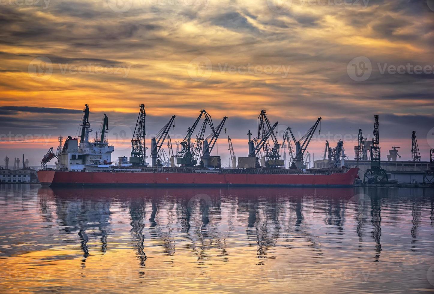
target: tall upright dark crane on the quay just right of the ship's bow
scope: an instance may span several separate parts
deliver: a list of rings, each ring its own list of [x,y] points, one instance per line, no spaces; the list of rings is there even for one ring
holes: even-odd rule
[[[363,182],[368,182],[369,184],[387,183],[388,176],[386,171],[381,168],[378,115],[375,115],[374,117],[374,132],[372,133],[371,144],[371,168],[365,172]]]

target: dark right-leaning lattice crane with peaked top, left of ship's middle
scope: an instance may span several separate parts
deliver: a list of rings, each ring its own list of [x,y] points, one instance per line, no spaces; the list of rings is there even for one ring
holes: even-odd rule
[[[202,123],[199,134],[196,136],[196,142],[191,144],[191,136],[193,135],[193,132],[199,124],[202,116],[205,116],[204,122]],[[202,109],[196,121],[193,123],[193,126],[188,127],[187,135],[185,135],[184,140],[182,140],[180,143],[181,151],[178,151],[179,157],[176,160],[177,164],[182,166],[195,166],[197,164],[197,158],[202,149],[202,141],[204,139],[205,128],[207,124],[209,124],[211,129],[214,131],[211,116],[205,111],[205,109]]]

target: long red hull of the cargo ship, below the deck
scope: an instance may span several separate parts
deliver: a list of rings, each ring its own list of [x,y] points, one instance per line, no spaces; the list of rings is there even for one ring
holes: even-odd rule
[[[329,175],[231,174],[171,172],[72,172],[40,170],[43,186],[150,186],[150,187],[351,187],[358,168]]]

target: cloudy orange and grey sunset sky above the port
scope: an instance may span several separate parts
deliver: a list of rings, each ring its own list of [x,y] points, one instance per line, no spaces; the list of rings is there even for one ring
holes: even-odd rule
[[[392,145],[410,159],[413,130],[422,160],[434,148],[434,0],[0,2],[1,164],[37,165],[76,136],[85,103],[94,130],[109,116],[113,157],[130,152],[141,103],[149,135],[177,115],[174,139],[201,109],[228,116],[237,156],[261,109],[296,136],[321,116],[316,159],[342,137],[353,158],[375,114],[383,159]]]

